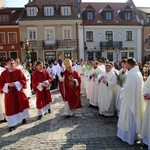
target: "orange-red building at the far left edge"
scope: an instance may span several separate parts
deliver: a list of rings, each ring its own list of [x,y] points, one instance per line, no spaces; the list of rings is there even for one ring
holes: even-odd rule
[[[19,19],[22,8],[0,9],[0,61],[8,57],[20,58]]]

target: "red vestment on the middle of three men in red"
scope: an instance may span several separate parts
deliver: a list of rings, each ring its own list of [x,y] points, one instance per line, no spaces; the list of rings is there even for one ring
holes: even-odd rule
[[[35,69],[32,76],[32,87],[36,92],[37,109],[42,109],[52,102],[50,90],[47,90],[45,87],[43,87],[42,91],[37,89],[39,83],[42,83],[46,80],[48,80],[50,83],[52,82],[52,77],[48,74],[47,70],[43,70],[41,72],[38,69]]]

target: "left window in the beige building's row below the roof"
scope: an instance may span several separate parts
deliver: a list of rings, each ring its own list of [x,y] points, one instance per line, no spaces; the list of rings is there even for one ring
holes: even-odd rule
[[[27,32],[28,32],[29,41],[37,40],[37,28],[34,28],[34,27],[28,28]]]

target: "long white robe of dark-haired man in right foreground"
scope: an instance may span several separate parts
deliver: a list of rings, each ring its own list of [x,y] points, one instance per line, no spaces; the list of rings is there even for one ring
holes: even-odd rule
[[[124,85],[117,136],[130,145],[134,144],[136,135],[141,132],[143,113],[143,76],[135,66],[129,70]]]

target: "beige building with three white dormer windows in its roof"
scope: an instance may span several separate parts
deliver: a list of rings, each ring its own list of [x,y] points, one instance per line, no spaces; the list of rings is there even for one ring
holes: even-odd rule
[[[77,59],[80,0],[33,0],[25,5],[19,22],[22,57],[25,60],[25,39],[32,61],[37,59]]]

